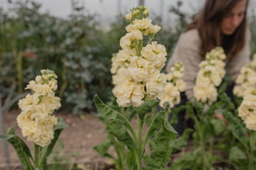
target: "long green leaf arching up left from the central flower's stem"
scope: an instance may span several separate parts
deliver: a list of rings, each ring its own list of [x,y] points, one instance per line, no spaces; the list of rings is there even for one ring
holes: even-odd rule
[[[121,113],[118,113],[114,109],[111,109],[109,106],[105,105],[102,100],[98,97],[98,95],[94,96],[94,103],[96,105],[96,108],[98,109],[98,113],[101,114],[102,117],[105,117],[109,121],[118,118],[120,119],[126,128],[133,134],[134,139],[137,139],[136,132],[134,131],[134,128],[132,125],[130,125],[130,121],[126,119],[126,117],[122,116]]]

